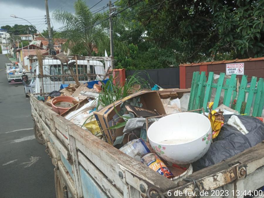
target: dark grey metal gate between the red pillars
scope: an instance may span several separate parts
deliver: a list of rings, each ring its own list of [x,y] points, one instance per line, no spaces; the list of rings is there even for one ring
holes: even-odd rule
[[[179,68],[167,68],[167,69],[153,69],[153,70],[139,70],[140,76],[147,80],[151,87],[154,84],[158,84],[160,87],[168,88],[179,88],[180,87],[180,70]],[[131,76],[136,70],[126,71],[126,76]],[[148,78],[148,73],[150,79]]]

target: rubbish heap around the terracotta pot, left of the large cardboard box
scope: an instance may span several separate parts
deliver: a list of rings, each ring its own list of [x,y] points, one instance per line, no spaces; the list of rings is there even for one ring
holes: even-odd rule
[[[93,111],[101,108],[97,98],[102,91],[102,83],[107,81],[62,84],[60,90],[51,92],[47,97],[38,96],[38,100],[72,123],[103,139]]]

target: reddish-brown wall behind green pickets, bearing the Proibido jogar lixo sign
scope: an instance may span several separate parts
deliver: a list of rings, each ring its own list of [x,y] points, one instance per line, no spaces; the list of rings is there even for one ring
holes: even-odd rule
[[[240,63],[240,62],[236,62]],[[201,67],[201,68],[200,68]],[[256,61],[244,61],[244,75],[248,75],[248,82],[250,82],[252,76],[256,76],[258,78],[264,78],[264,60],[256,60]],[[205,65],[196,65],[196,66],[185,66],[185,88],[191,88],[192,83],[192,73],[197,71],[205,71]],[[215,74],[220,74],[220,72],[226,72],[226,63],[219,64],[211,64],[207,65],[207,73],[214,72]],[[237,75],[237,77],[241,78],[242,75]],[[181,78],[181,76],[180,76]],[[183,88],[183,86],[181,87]]]

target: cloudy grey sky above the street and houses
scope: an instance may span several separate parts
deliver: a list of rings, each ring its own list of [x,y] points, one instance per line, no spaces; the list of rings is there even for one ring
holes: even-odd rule
[[[89,7],[92,7],[101,0],[85,1]],[[60,28],[62,24],[56,23],[52,19],[53,11],[56,9],[62,9],[74,12],[74,2],[75,0],[48,0],[50,18],[55,30]],[[102,8],[106,6],[107,3],[109,3],[109,0],[102,0],[94,6],[91,11]],[[10,17],[10,14],[15,14],[18,17],[30,21],[39,31],[47,28],[47,25],[45,24],[45,0],[1,0],[0,8],[0,27],[5,25],[13,26],[14,24],[30,25],[26,21]]]

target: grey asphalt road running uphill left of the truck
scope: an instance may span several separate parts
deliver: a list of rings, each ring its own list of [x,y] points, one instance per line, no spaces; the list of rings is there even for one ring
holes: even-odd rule
[[[31,107],[22,84],[8,84],[0,55],[0,197],[56,197],[54,166],[35,140]]]

